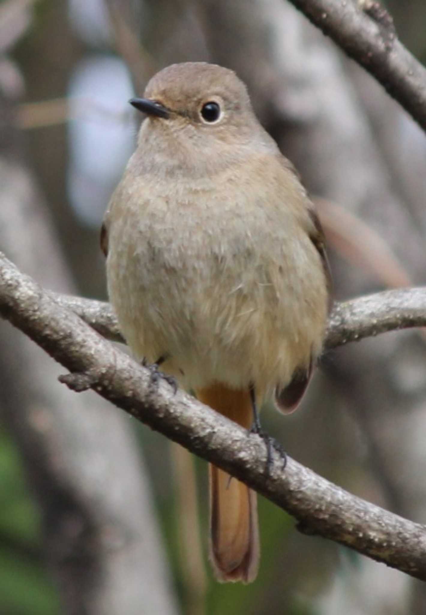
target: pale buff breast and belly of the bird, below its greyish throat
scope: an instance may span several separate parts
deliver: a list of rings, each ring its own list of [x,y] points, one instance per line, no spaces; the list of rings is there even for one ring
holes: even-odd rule
[[[194,387],[290,378],[314,338],[319,348],[326,312],[318,255],[291,224],[248,194],[130,199],[110,227],[107,271],[133,352],[167,354]]]

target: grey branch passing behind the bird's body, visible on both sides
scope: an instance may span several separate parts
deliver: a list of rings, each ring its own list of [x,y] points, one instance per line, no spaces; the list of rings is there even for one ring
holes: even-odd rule
[[[105,301],[51,293],[106,339],[123,342],[111,306]],[[426,288],[398,288],[335,303],[329,317],[325,348],[412,327],[426,327]]]

